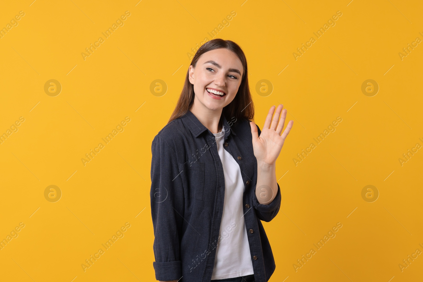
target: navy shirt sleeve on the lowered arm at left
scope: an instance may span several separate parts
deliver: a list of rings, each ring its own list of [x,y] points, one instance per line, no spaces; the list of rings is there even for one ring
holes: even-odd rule
[[[156,279],[181,278],[179,241],[184,214],[184,189],[174,149],[156,135],[151,144],[151,217]]]

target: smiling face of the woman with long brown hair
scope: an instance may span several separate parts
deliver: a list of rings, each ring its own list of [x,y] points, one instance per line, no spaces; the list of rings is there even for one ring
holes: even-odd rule
[[[219,48],[204,53],[195,68],[191,65],[189,79],[194,85],[196,110],[222,110],[235,98],[244,69],[232,51]]]

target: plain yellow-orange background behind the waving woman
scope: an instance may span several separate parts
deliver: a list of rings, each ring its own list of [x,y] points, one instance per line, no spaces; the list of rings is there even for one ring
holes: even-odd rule
[[[422,9],[420,1],[398,0],[2,3],[0,27],[11,25],[0,38],[0,134],[7,134],[0,239],[19,232],[0,250],[0,280],[155,280],[151,141],[175,107],[187,53],[216,27],[216,37],[236,41],[247,56],[258,126],[279,103],[294,120],[277,160],[281,209],[263,223],[276,262],[269,281],[420,279],[421,255],[402,271],[398,265],[423,251],[423,47],[398,53],[423,40]],[[12,21],[19,11],[25,15]],[[105,38],[125,11],[123,25]],[[231,11],[236,16],[223,21]],[[342,16],[317,38],[313,32],[337,11]],[[295,58],[310,37],[315,42]],[[150,90],[156,79],[164,82],[158,93]],[[376,84],[363,92],[367,79]],[[338,117],[317,144],[313,138]],[[98,153],[84,165],[91,149]],[[45,192],[50,185],[55,192]],[[362,196],[367,185],[373,190]],[[313,244],[338,222],[336,236],[317,250]],[[123,237],[84,271],[117,232]],[[311,248],[316,254],[295,271]]]

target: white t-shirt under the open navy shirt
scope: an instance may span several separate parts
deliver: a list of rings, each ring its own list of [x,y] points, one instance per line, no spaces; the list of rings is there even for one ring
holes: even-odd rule
[[[241,169],[233,156],[223,148],[224,129],[213,135],[225,176],[225,198],[219,231],[221,241],[217,244],[211,280],[254,274],[242,210],[245,187]]]

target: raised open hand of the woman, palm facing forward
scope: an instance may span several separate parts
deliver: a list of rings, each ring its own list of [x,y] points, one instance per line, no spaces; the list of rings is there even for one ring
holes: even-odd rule
[[[267,165],[275,165],[283,143],[294,124],[294,120],[290,120],[285,131],[283,131],[282,135],[280,135],[285,124],[287,112],[286,109],[282,111],[282,108],[283,105],[277,106],[275,112],[275,106],[270,107],[263,129],[261,130],[260,137],[258,136],[257,126],[255,126],[253,121],[250,122],[251,134],[253,135],[254,156],[257,159],[257,163],[261,162]],[[275,112],[275,116],[273,116],[273,112]],[[279,120],[281,112],[282,116]]]

